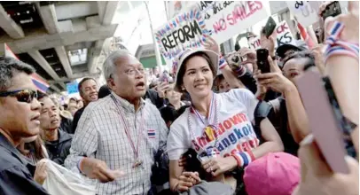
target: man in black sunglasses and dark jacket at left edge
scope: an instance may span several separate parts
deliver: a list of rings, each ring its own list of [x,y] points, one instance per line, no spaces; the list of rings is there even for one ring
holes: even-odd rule
[[[0,57],[0,193],[48,194],[33,179],[35,166],[16,147],[39,134],[40,108],[31,80],[35,72],[14,58]]]

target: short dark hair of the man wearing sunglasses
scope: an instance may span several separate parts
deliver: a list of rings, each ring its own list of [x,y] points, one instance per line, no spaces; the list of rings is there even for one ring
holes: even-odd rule
[[[12,77],[20,73],[30,75],[35,73],[35,69],[16,58],[0,57],[0,91],[12,87]]]

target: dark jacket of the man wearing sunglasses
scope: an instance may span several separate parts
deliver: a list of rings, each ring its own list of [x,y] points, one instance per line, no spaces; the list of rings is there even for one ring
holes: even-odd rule
[[[34,181],[34,173],[35,166],[0,133],[0,194],[48,194]]]

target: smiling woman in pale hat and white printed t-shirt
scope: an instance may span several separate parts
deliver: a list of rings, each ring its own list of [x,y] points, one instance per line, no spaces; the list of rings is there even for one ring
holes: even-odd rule
[[[214,178],[284,149],[267,118],[260,123],[264,143],[259,145],[252,126],[258,100],[251,91],[234,89],[215,94],[211,90],[218,64],[214,51],[187,49],[177,57],[176,90],[189,92],[192,107],[174,121],[168,135],[172,191],[187,191],[200,182],[199,174],[183,172],[178,163],[190,148]]]

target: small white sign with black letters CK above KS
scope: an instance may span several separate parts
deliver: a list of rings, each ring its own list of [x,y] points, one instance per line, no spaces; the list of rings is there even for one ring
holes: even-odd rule
[[[286,20],[280,22],[275,28],[277,40],[275,42],[275,48],[283,44],[295,44],[295,39],[290,31],[290,27],[287,25]]]

